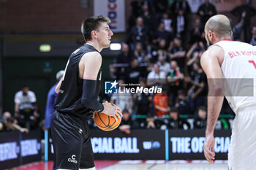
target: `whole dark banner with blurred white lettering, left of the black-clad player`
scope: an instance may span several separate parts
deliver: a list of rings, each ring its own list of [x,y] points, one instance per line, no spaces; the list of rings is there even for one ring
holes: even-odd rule
[[[29,134],[12,131],[0,134],[0,169],[41,161],[40,131]]]

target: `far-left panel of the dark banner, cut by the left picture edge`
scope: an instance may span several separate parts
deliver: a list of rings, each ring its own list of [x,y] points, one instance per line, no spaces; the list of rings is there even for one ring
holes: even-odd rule
[[[20,134],[18,131],[0,134],[0,169],[20,165]]]

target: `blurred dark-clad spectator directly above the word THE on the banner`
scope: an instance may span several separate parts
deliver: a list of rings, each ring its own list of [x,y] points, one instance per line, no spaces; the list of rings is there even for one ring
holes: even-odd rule
[[[190,124],[187,120],[178,117],[178,109],[172,107],[170,109],[170,118],[164,120],[167,128],[170,129],[184,129],[188,130],[190,128]]]

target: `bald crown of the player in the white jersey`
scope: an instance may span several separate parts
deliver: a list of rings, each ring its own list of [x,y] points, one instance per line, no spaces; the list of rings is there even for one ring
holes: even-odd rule
[[[219,34],[219,36],[231,36],[231,23],[225,15],[214,15],[207,23],[205,30],[211,30]]]

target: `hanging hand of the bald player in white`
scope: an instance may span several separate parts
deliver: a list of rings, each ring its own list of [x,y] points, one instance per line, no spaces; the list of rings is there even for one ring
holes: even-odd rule
[[[206,160],[209,163],[214,163],[215,160],[215,151],[214,151],[215,139],[214,135],[206,135],[206,142],[203,145],[203,153],[206,157]]]

